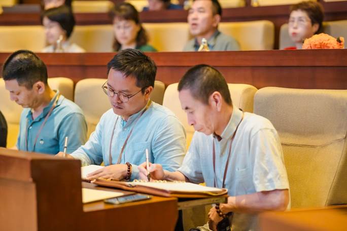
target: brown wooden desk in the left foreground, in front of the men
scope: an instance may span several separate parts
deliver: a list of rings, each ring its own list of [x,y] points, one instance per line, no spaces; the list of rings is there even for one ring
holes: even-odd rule
[[[83,205],[80,164],[78,160],[0,148],[0,230],[175,228],[175,198]]]

